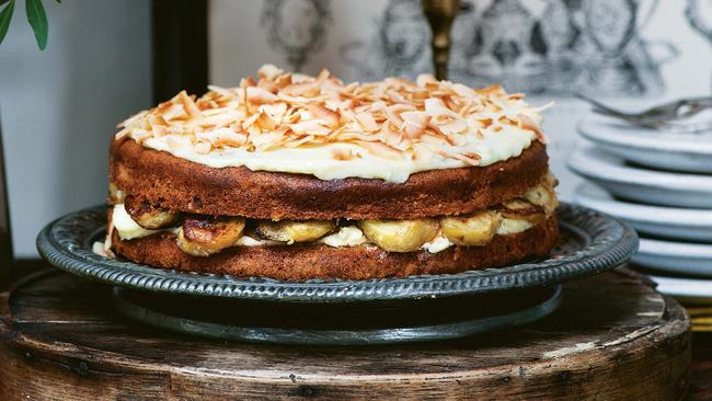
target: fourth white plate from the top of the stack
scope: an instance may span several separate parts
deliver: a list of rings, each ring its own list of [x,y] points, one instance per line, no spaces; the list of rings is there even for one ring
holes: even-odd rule
[[[641,238],[633,263],[662,272],[712,277],[712,244]]]

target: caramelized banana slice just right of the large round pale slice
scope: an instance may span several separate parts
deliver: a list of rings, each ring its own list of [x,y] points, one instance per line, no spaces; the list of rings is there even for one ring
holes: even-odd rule
[[[484,210],[470,216],[444,217],[440,231],[456,245],[484,245],[494,237],[502,216],[493,210]]]

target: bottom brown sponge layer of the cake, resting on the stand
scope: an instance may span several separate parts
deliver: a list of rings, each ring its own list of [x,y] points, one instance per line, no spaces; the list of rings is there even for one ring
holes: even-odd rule
[[[558,240],[555,215],[526,231],[495,236],[484,247],[451,247],[438,253],[393,253],[367,245],[331,248],[294,244],[233,247],[208,257],[197,257],[183,252],[175,244],[175,234],[169,231],[129,241],[122,241],[116,232],[113,236],[116,252],[137,263],[179,271],[283,280],[405,277],[506,266],[548,255]]]

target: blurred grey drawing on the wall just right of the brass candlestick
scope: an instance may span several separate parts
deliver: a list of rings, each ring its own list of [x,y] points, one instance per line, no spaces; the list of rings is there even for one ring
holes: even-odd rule
[[[455,28],[451,77],[504,81],[527,92],[641,95],[661,92],[659,67],[676,57],[670,43],[640,35],[650,11],[636,0],[472,2]],[[506,27],[506,28],[502,28]],[[663,46],[664,57],[651,46]]]

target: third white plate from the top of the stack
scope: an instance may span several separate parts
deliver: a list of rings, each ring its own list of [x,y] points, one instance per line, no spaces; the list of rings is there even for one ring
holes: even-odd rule
[[[576,187],[574,202],[618,217],[642,233],[712,242],[712,209],[682,209],[617,200],[592,183],[583,183]]]

